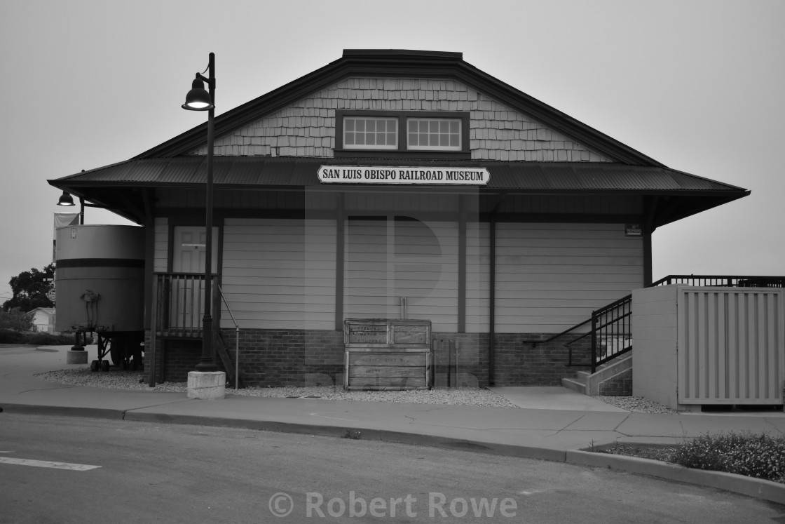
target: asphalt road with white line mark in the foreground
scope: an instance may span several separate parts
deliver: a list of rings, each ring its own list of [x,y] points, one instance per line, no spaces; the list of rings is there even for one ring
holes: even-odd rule
[[[785,506],[540,460],[350,438],[0,413],[0,522],[336,517],[761,523],[785,522]]]

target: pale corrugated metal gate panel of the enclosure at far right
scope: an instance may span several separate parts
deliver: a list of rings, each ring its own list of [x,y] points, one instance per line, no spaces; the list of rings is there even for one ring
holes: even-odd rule
[[[679,288],[678,402],[783,404],[782,288]]]

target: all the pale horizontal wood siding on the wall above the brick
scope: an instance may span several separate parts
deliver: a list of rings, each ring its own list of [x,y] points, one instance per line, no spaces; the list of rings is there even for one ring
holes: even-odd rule
[[[416,213],[412,213],[416,214]],[[345,318],[433,322],[458,329],[458,222],[349,219]],[[466,332],[488,332],[490,226],[466,224]],[[155,222],[156,271],[167,268],[166,218]],[[335,323],[331,220],[226,218],[222,288],[243,328],[327,329]],[[498,333],[555,333],[643,287],[641,237],[623,224],[497,224]],[[231,328],[228,313],[222,326]]]

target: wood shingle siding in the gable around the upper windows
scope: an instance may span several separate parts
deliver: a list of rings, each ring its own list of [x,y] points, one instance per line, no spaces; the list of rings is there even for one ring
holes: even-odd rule
[[[436,79],[342,80],[232,134],[218,137],[215,155],[334,156],[335,110],[469,112],[472,159],[609,162],[568,137],[473,90]],[[206,147],[192,151],[206,154]]]

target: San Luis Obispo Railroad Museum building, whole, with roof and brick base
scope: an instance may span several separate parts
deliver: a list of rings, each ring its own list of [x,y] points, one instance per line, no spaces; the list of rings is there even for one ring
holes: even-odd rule
[[[159,381],[201,356],[206,137],[204,124],[49,181],[144,227],[145,369]],[[246,385],[341,386],[347,325],[397,322],[425,326],[436,385],[558,385],[585,355],[542,342],[650,284],[657,227],[748,193],[461,53],[348,49],[215,119],[219,365],[231,380],[236,347]]]

